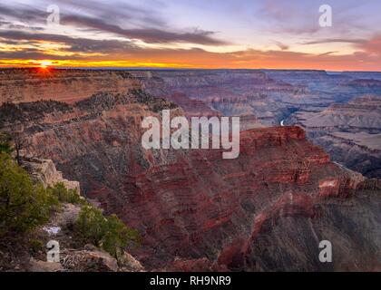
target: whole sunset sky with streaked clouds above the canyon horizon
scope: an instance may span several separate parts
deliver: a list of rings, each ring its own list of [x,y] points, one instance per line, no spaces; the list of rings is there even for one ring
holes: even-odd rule
[[[380,11],[378,0],[3,1],[0,66],[381,71]]]

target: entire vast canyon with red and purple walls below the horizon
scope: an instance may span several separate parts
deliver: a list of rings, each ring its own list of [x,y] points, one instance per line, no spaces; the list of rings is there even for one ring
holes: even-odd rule
[[[17,90],[10,73],[0,74],[0,131],[22,134],[24,154],[53,160],[65,179],[80,182],[83,196],[136,228],[142,245],[130,252],[146,269],[381,269],[381,181],[332,162],[329,150],[310,141],[335,134],[346,140],[340,146],[350,139],[379,150],[378,99],[358,99],[369,85],[349,83],[352,75],[52,69],[39,83],[32,82],[45,80],[37,71],[13,73],[25,72],[32,75]],[[344,131],[350,121],[331,117],[348,106],[358,130]],[[241,116],[239,158],[223,160],[223,150],[145,150],[142,120],[160,120],[162,110]],[[278,126],[282,120],[288,126]],[[328,127],[335,130],[320,136]],[[321,240],[332,242],[333,263],[318,260]]]

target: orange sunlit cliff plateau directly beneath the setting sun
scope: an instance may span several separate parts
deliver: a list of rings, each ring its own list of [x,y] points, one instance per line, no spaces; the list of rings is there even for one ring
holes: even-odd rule
[[[139,83],[124,71],[0,69],[0,104],[77,102],[95,92],[126,92],[132,88],[139,88]]]

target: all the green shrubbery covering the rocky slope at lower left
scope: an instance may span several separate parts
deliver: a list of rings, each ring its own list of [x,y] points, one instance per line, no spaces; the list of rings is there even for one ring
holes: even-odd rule
[[[12,158],[8,137],[0,138],[0,237],[7,240],[27,237],[34,228],[45,225],[65,203],[71,203],[81,207],[73,236],[83,243],[92,243],[117,257],[125,247],[138,242],[135,230],[126,227],[115,215],[103,216],[76,189],[66,189],[63,183],[44,189],[41,183],[34,183]]]

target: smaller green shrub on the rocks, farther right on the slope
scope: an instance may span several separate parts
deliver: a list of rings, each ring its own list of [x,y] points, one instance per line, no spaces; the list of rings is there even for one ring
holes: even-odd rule
[[[104,217],[101,210],[92,206],[83,206],[76,227],[84,239],[114,257],[119,249],[139,241],[136,230],[126,227],[115,215]]]

